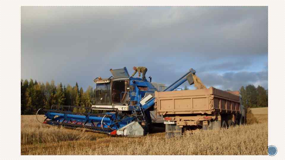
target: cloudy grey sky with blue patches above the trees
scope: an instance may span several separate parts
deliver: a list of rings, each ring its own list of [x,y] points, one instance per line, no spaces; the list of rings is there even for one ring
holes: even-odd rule
[[[267,89],[267,43],[267,7],[21,7],[21,78],[83,89],[133,66],[166,85],[194,68],[207,87]]]

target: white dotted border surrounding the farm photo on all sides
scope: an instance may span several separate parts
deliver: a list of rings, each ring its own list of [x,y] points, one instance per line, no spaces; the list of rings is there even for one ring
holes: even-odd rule
[[[284,110],[283,95],[284,84],[284,2],[283,1],[0,1],[0,145],[3,159],[44,159],[41,156],[20,156],[20,87],[21,78],[21,6],[269,6],[268,7],[268,145],[275,145],[278,154],[270,158],[280,159],[284,156],[284,129],[280,111]],[[12,87],[11,87],[12,86]],[[7,106],[11,108],[7,110]],[[8,125],[7,125],[8,124]],[[9,127],[8,127],[9,126]],[[11,127],[12,126],[12,127]],[[116,159],[143,158],[143,159],[232,159],[236,156],[116,156]],[[239,156],[241,158],[268,159],[269,156]],[[50,158],[50,157],[49,157]],[[62,158],[56,156],[53,158]],[[79,156],[66,156],[68,159],[78,159]],[[84,159],[107,159],[106,156],[84,156]],[[108,157],[111,158],[111,157]]]

